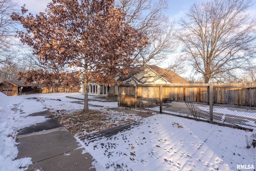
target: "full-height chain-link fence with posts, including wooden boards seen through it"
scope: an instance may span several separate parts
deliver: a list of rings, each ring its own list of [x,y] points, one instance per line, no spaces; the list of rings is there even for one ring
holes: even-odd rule
[[[120,85],[121,105],[256,129],[256,83]]]

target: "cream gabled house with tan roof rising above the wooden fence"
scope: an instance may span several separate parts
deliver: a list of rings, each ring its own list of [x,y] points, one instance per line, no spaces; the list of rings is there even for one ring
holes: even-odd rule
[[[188,84],[189,82],[171,70],[156,65],[146,65],[144,70],[124,81],[129,84]]]

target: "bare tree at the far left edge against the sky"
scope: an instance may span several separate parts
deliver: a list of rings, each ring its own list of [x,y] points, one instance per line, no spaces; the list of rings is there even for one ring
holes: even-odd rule
[[[13,0],[0,0],[0,82],[17,80],[18,73],[26,69],[22,44],[15,38],[18,22],[10,17],[15,11]]]

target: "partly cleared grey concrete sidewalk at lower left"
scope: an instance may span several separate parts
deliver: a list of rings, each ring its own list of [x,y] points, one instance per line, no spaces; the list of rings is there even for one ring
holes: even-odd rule
[[[29,116],[49,116],[49,114],[50,112],[46,110]],[[84,149],[80,148],[71,133],[52,118],[44,123],[19,130],[17,139],[19,153],[16,159],[32,158],[33,164],[27,171],[95,170],[92,168],[92,156],[89,153],[82,153]]]

